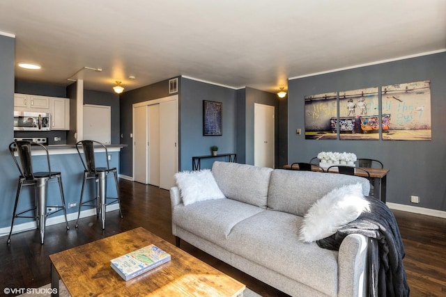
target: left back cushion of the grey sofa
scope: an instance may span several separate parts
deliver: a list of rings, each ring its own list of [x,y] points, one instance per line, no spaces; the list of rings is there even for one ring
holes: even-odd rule
[[[272,168],[215,161],[212,172],[226,198],[266,207]]]

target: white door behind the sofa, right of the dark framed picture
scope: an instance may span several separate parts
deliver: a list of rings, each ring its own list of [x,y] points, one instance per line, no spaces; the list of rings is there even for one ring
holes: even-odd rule
[[[254,166],[274,168],[274,106],[254,104]]]

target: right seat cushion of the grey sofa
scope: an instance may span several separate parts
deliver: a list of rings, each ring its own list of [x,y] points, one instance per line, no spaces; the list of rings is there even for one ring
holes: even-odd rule
[[[220,246],[288,278],[337,296],[338,252],[298,239],[302,217],[262,211],[233,227]]]

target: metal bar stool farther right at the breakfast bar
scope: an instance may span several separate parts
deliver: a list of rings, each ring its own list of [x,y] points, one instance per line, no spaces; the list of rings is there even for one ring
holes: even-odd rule
[[[96,167],[95,166],[95,150],[94,146],[97,145],[105,150],[105,160],[107,161],[107,167]],[[84,152],[84,157],[79,148],[82,146],[82,151]],[[119,215],[123,218],[121,212],[121,201],[119,200],[119,188],[118,188],[118,174],[116,168],[110,168],[107,147],[98,141],[79,141],[76,143],[77,153],[81,158],[82,165],[84,166],[84,180],[82,182],[81,198],[79,202],[79,211],[77,213],[76,228],[79,227],[79,216],[81,214],[81,207],[95,207],[96,216],[101,215],[102,220],[102,230],[105,229],[105,212],[106,207],[109,204],[118,202],[119,204]],[[116,198],[107,198],[107,175],[113,173],[114,182],[116,184]],[[90,200],[82,202],[84,196],[84,188],[87,179],[94,179],[96,183],[96,196]],[[91,204],[95,200],[95,204]],[[107,203],[107,200],[109,202]]]

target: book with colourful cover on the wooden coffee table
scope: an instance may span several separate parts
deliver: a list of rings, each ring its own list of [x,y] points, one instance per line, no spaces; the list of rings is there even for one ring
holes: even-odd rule
[[[170,259],[171,257],[167,252],[151,244],[110,260],[110,266],[118,275],[121,275],[121,278],[127,281],[169,262]]]

